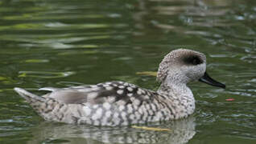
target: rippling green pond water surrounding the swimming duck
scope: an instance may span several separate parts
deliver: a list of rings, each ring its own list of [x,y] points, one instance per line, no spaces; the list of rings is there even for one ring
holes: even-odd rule
[[[0,1],[1,143],[255,143],[256,1]],[[227,89],[190,84],[190,118],[148,126],[44,122],[12,90],[122,80],[156,90],[158,69],[175,48],[199,50]],[[233,98],[233,101],[226,99]]]

